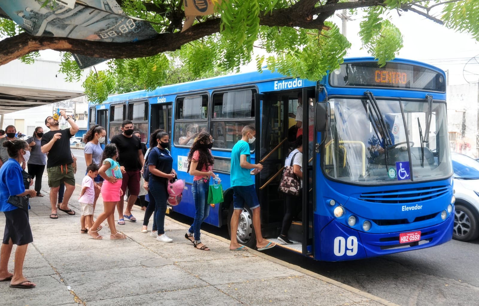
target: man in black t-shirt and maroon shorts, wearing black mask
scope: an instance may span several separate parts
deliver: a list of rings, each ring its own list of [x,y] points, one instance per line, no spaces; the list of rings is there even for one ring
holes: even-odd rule
[[[123,173],[121,189],[123,194],[126,192],[126,187],[128,187],[128,191],[130,192],[125,212],[123,211],[123,197],[121,197],[116,207],[119,216],[118,224],[124,225],[124,218],[131,222],[137,222],[137,218],[131,214],[131,209],[137,201],[138,193],[140,193],[140,170],[143,169],[145,161],[143,160],[143,152],[141,151],[141,140],[133,135],[133,123],[130,120],[124,120],[121,130],[123,133],[113,136],[111,143],[115,144],[118,148],[119,155],[116,160],[120,164],[120,169]]]

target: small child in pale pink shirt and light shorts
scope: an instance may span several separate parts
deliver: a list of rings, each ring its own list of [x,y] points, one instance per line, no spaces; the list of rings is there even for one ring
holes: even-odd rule
[[[93,224],[93,201],[95,200],[96,184],[93,181],[98,175],[98,165],[92,163],[87,167],[87,175],[81,181],[81,193],[78,202],[81,204],[80,232],[88,233],[88,228]]]

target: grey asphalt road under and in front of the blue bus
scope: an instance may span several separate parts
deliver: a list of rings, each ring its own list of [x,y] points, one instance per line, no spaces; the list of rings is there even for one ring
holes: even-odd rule
[[[77,157],[75,179],[81,183],[86,169],[83,150],[72,152]],[[173,217],[192,222],[188,217]],[[228,238],[226,228],[203,229]],[[268,255],[403,306],[474,306],[479,305],[478,253],[479,239],[452,240],[434,248],[361,261],[319,262],[280,248]]]

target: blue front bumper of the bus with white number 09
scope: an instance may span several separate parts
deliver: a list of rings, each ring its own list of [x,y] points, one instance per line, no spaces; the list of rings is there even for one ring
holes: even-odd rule
[[[434,226],[387,234],[359,232],[334,219],[329,221],[319,233],[319,241],[316,242],[320,243],[320,254],[315,254],[315,258],[321,261],[349,261],[443,244],[452,239],[454,214]],[[419,241],[399,243],[399,234],[416,231],[421,231]]]

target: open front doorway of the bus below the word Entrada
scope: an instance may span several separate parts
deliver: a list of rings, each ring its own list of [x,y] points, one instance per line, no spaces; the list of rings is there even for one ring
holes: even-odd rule
[[[303,90],[304,97],[314,97],[313,90]],[[261,203],[262,235],[268,237],[268,240],[276,242],[281,247],[294,250],[304,255],[310,255],[312,251],[312,192],[311,187],[303,192],[302,197],[302,221],[293,222],[289,233],[294,241],[292,245],[281,245],[276,238],[279,235],[278,229],[282,227],[282,221],[285,214],[285,195],[278,192],[279,182],[283,176],[285,159],[290,152],[290,142],[288,141],[290,100],[296,93],[288,92],[279,94],[256,94],[256,143],[255,143],[255,161],[261,163],[263,170],[256,175],[255,184],[258,199]],[[304,99],[308,101],[308,99]],[[305,105],[307,105],[305,103]],[[308,108],[305,118],[308,118]],[[296,111],[296,110],[294,110]],[[305,139],[308,139],[308,129],[304,133]],[[303,156],[309,156],[309,144],[304,142]],[[311,177],[312,166],[308,165],[308,159],[303,159],[303,176],[305,181]],[[311,169],[311,170],[309,170]],[[305,173],[306,172],[306,173]],[[312,185],[312,184],[311,184]]]

